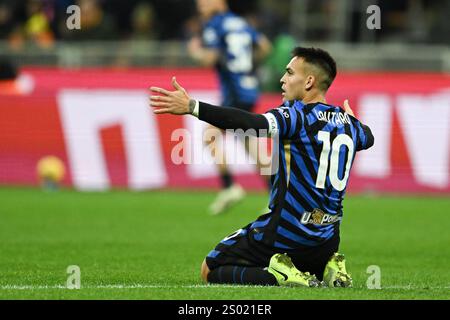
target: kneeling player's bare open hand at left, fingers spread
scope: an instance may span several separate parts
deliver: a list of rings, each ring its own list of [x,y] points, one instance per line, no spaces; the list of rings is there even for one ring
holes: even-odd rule
[[[150,106],[155,108],[154,113],[187,114],[189,111],[190,97],[186,90],[180,86],[175,77],[172,77],[172,86],[175,91],[168,91],[163,88],[151,87],[152,93],[158,95],[150,96]],[[159,108],[159,109],[156,109]]]

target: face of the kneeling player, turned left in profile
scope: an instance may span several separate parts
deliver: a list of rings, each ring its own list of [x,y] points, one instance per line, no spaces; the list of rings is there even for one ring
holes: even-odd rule
[[[286,66],[286,72],[280,80],[283,101],[303,100],[306,93],[306,78],[302,58],[294,57]]]

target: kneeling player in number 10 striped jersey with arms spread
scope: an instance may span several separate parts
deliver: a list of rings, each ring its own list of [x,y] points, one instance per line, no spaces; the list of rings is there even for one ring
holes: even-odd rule
[[[349,287],[338,253],[347,182],[356,152],[374,137],[348,103],[329,105],[325,95],[336,62],[316,48],[297,47],[281,78],[283,104],[265,114],[221,108],[176,91],[152,88],[155,113],[191,113],[222,129],[265,130],[279,139],[279,167],[272,176],[270,212],[223,239],[203,261],[210,283]]]

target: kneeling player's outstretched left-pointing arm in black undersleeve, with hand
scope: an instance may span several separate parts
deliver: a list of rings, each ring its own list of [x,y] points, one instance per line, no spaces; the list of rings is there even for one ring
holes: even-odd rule
[[[191,99],[175,77],[172,78],[172,85],[175,91],[158,87],[150,88],[153,93],[158,94],[150,96],[150,106],[155,108],[154,113],[192,114],[221,129],[242,129],[244,131],[254,129],[257,135],[260,133],[259,130],[268,132],[268,120],[261,114],[236,108],[218,107]]]

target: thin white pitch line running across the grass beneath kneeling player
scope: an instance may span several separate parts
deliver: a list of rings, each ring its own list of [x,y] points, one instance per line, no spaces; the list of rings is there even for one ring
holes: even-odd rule
[[[255,288],[257,286],[245,286],[245,285],[150,285],[150,284],[135,284],[135,285],[125,285],[125,284],[107,284],[107,285],[94,285],[94,286],[83,286],[81,289],[192,289],[192,288],[231,288],[231,289],[242,289],[242,288]],[[263,288],[263,286],[259,286]],[[67,289],[64,285],[2,285],[0,290],[51,290],[51,289]],[[319,288],[320,289],[320,288]],[[364,287],[355,287],[354,289],[366,289]],[[421,286],[386,286],[381,287],[380,290],[450,290],[450,286],[442,287],[421,287]],[[369,289],[367,289],[369,290]]]

